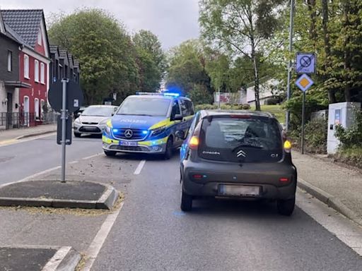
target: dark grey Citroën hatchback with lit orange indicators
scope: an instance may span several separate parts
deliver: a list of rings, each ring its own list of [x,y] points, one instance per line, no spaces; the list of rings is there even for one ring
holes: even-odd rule
[[[276,200],[281,215],[296,201],[297,170],[291,143],[273,115],[200,111],[180,150],[181,209],[201,197]]]

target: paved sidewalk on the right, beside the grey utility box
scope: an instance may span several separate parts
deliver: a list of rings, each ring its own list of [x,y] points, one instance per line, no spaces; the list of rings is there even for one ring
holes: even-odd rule
[[[298,186],[362,225],[362,174],[332,162],[293,152]]]

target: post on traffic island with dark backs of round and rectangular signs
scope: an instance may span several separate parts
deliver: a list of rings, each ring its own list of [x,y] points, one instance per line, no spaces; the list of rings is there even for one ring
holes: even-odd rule
[[[83,103],[83,92],[77,83],[63,79],[52,84],[48,94],[49,104],[58,117],[57,143],[62,145],[62,183],[65,182],[66,145],[71,145],[71,116]]]

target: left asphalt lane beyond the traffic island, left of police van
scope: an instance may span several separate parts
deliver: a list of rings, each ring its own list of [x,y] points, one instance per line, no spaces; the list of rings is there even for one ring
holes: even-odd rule
[[[72,145],[66,147],[66,159],[71,162],[99,152],[102,152],[100,138],[73,138]],[[61,153],[55,135],[0,146],[0,185],[58,167],[61,164]]]

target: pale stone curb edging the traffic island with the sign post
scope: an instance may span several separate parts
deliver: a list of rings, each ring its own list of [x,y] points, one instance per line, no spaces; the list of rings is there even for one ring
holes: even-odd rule
[[[6,186],[11,184],[13,183],[6,183]],[[119,198],[119,192],[116,191],[113,186],[103,183],[102,185],[105,186],[106,189],[98,200],[57,200],[53,198],[0,197],[0,206],[30,206],[111,210],[113,205],[117,201],[117,198]]]

